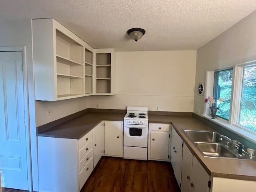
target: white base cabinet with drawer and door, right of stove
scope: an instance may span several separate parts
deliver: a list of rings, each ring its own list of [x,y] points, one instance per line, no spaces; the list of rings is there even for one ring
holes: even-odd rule
[[[148,160],[170,161],[170,124],[149,124]]]

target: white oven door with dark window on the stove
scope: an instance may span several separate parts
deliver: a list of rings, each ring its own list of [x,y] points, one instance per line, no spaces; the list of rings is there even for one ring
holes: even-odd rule
[[[124,124],[124,146],[148,147],[148,125]]]

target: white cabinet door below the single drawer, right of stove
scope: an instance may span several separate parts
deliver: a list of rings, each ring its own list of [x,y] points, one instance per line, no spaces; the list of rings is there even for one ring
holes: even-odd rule
[[[150,158],[157,160],[168,160],[169,132],[150,133]]]

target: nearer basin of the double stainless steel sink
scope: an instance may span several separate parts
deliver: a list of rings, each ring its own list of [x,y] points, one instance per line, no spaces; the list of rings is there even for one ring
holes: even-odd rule
[[[206,143],[195,142],[195,146],[198,147],[204,156],[218,157],[218,158],[237,158],[238,155],[228,150],[228,148],[220,143]]]

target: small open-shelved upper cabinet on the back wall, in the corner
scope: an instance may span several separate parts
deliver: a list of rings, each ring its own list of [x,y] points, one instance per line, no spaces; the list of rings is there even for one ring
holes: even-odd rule
[[[113,95],[116,91],[116,52],[114,49],[95,49],[96,85],[94,93]]]

